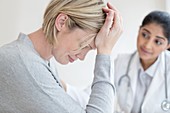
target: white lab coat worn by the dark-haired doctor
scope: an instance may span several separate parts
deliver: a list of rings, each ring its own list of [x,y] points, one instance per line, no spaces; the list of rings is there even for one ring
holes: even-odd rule
[[[147,91],[147,94],[144,98],[142,104],[142,113],[170,113],[164,112],[161,109],[161,103],[165,100],[165,54],[166,54],[166,66],[167,66],[167,80],[168,80],[168,97],[170,101],[170,52],[162,52],[160,57],[160,65],[156,69],[155,75],[152,79],[150,87]],[[139,56],[138,53],[135,53],[135,56],[132,59],[130,68],[129,68],[129,77],[130,88],[127,88],[127,81],[122,80],[121,85],[118,86],[119,79],[122,75],[125,75],[128,61],[132,54],[121,54],[115,59],[114,62],[114,82],[116,86],[116,98],[115,99],[115,113],[130,113],[133,104],[135,104],[135,93],[137,86],[137,76],[139,69]],[[67,84],[68,85],[68,84]],[[88,91],[88,92],[87,92]],[[89,99],[90,87],[87,87],[86,90],[82,90],[81,93],[76,91],[74,87],[68,87],[68,94],[72,96],[82,107],[87,105],[87,100]],[[85,95],[83,94],[85,93]],[[140,92],[138,92],[140,93]],[[76,95],[75,95],[76,94]],[[78,96],[77,96],[78,95]],[[76,96],[76,99],[74,96]]]

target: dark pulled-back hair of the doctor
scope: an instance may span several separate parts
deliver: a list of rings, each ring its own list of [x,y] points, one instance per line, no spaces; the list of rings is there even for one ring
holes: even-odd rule
[[[155,23],[163,28],[163,34],[170,43],[170,14],[165,11],[152,11],[144,18],[141,27]]]

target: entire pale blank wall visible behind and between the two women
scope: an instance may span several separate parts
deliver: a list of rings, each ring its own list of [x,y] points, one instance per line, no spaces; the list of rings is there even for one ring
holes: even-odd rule
[[[16,39],[19,32],[26,34],[41,27],[42,16],[50,0],[0,0],[0,46]],[[152,10],[165,10],[169,0],[107,0],[120,10],[124,20],[124,33],[113,50],[118,53],[136,49],[136,35],[143,17]],[[167,5],[167,3],[169,5]],[[62,79],[83,87],[93,78],[95,52],[90,52],[85,61],[66,66],[58,65]],[[2,64],[0,64],[2,65]]]

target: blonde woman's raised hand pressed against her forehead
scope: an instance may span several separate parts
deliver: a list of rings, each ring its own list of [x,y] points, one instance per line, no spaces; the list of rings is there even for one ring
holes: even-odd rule
[[[108,8],[103,8],[106,13],[106,20],[98,32],[95,45],[97,54],[111,54],[112,48],[122,34],[123,25],[119,12],[107,3]]]

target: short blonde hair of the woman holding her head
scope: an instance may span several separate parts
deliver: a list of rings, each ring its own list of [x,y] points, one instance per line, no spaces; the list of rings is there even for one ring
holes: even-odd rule
[[[52,0],[44,13],[43,32],[52,45],[56,43],[55,19],[60,13],[68,15],[69,29],[79,27],[97,33],[105,20],[102,0]]]

